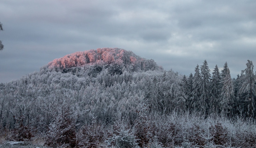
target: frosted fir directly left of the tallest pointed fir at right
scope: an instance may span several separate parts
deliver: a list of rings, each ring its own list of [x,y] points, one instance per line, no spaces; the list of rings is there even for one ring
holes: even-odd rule
[[[195,74],[193,76],[193,80],[192,80],[192,87],[193,87],[193,91],[192,91],[192,97],[191,97],[191,107],[199,110],[200,107],[198,105],[199,103],[199,97],[201,96],[200,93],[200,89],[199,89],[199,80],[201,79],[201,74],[199,71],[199,65],[197,64],[196,68],[195,68]]]

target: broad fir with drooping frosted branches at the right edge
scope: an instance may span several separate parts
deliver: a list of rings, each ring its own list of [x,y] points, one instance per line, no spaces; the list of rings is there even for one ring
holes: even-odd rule
[[[256,76],[254,75],[253,71],[253,62],[250,60],[247,60],[248,62],[246,63],[247,68],[242,71],[242,73],[245,72],[244,75],[240,77],[241,79],[241,88],[239,89],[239,93],[246,93],[247,94],[247,99],[248,99],[248,112],[247,115],[249,117],[255,117],[255,96],[256,96]]]

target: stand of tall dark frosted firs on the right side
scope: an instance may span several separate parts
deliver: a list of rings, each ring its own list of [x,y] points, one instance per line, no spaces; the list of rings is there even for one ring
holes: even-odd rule
[[[209,113],[227,117],[242,115],[256,117],[256,75],[248,60],[246,69],[237,78],[231,78],[227,62],[221,72],[216,65],[212,75],[205,60],[196,66],[195,74],[183,77],[187,107],[206,116]]]

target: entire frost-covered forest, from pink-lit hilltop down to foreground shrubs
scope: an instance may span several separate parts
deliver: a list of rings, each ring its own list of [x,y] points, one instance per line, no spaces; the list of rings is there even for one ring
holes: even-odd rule
[[[119,48],[55,59],[0,84],[0,135],[49,147],[256,147],[256,74],[165,71]]]

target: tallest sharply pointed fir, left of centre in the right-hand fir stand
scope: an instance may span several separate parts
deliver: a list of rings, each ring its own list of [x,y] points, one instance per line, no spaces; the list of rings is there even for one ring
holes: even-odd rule
[[[204,60],[203,65],[200,66],[201,69],[201,79],[199,79],[199,106],[203,114],[208,114],[208,104],[209,104],[209,92],[210,92],[210,80],[211,74],[208,67],[208,63]]]

